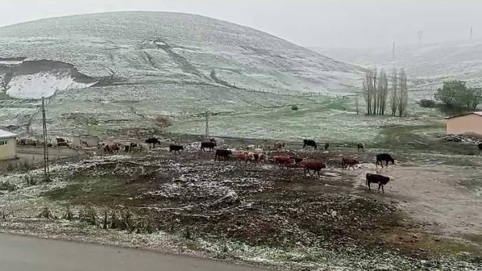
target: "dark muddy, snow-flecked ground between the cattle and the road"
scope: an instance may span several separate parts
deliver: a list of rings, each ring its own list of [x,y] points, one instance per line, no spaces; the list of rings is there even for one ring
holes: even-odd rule
[[[286,270],[480,268],[480,157],[395,152],[382,172],[395,181],[378,193],[365,174],[382,150],[288,148],[328,169],[311,177],[157,148],[57,165],[46,184],[27,185],[39,170],[8,174],[1,228]],[[363,163],[341,169],[345,155]]]

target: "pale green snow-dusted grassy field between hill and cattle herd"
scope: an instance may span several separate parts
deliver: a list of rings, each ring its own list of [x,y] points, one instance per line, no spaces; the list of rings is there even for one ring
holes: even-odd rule
[[[41,115],[32,101],[0,99],[0,115],[23,132],[41,134]],[[361,103],[363,104],[363,103]],[[299,110],[292,110],[296,105]],[[47,106],[51,135],[95,134],[102,139],[143,138],[163,133],[300,141],[372,148],[441,149],[445,117],[437,108],[421,108],[411,99],[407,117],[356,114],[349,97],[288,96],[253,93],[209,85],[146,84],[63,91]],[[169,116],[172,126],[160,126]],[[29,125],[30,124],[30,125]]]

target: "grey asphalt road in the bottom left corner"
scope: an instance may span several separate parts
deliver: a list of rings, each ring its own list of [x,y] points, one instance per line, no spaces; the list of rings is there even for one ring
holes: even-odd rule
[[[218,271],[262,269],[129,248],[0,234],[5,271]]]

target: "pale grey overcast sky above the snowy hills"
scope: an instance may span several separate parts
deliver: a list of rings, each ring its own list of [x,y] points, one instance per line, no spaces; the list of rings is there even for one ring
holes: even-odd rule
[[[0,25],[121,10],[201,14],[307,47],[391,47],[482,38],[481,0],[0,0]]]

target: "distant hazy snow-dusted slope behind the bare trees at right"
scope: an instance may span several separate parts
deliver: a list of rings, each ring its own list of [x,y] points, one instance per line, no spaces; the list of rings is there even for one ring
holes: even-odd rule
[[[393,60],[391,47],[374,49],[312,48],[363,67],[405,67],[419,86],[441,84],[446,80],[482,83],[482,40],[458,40],[396,47]]]

